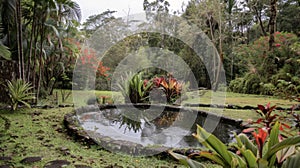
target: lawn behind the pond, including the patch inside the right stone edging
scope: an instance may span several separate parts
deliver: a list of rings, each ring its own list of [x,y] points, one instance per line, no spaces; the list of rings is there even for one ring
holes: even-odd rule
[[[58,100],[59,103],[61,103],[61,94],[60,90],[55,90],[55,92],[58,93]],[[67,90],[67,92],[72,92],[70,90]],[[121,93],[117,92],[111,92],[111,91],[74,91],[76,98],[75,103],[77,106],[85,106],[87,100],[92,97],[101,97],[101,96],[114,96],[115,103],[123,103],[124,99],[121,98]],[[198,96],[197,92],[188,92],[188,100],[183,101],[182,103],[201,103],[201,104],[210,104],[212,94],[215,94],[216,97],[226,96],[225,97],[225,104],[232,104],[232,105],[239,105],[239,106],[254,106],[256,107],[258,104],[266,105],[267,103],[271,103],[271,105],[276,105],[278,107],[283,108],[290,108],[295,104],[299,104],[299,102],[296,101],[290,101],[290,100],[284,100],[280,98],[276,98],[273,96],[264,96],[264,95],[253,95],[253,94],[240,94],[240,93],[232,93],[232,92],[217,92],[212,93],[212,91],[205,91],[203,95]],[[62,104],[73,104],[74,103],[72,94],[69,96],[69,98]],[[205,110],[209,112],[215,113],[213,108],[196,108],[199,110]],[[254,110],[233,110],[233,109],[224,109],[221,115],[224,115],[229,118],[234,119],[256,119],[257,113]]]

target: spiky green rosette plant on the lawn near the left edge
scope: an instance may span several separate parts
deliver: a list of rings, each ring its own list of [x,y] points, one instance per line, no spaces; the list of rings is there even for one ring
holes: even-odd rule
[[[10,97],[10,105],[13,111],[17,110],[18,104],[23,104],[30,108],[28,100],[35,99],[34,93],[31,91],[32,86],[29,82],[21,79],[7,81],[8,94]]]

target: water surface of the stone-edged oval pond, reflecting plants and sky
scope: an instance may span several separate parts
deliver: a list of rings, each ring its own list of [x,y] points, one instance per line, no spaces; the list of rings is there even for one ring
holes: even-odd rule
[[[242,130],[241,121],[173,106],[105,106],[99,110],[81,111],[77,116],[83,129],[94,132],[93,135],[144,147],[199,147],[200,143],[192,136],[197,124],[207,126],[216,122],[213,134],[224,143],[233,140],[233,132],[240,133]]]

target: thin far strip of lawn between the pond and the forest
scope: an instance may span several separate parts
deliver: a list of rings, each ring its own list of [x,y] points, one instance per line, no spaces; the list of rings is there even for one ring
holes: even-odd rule
[[[121,93],[111,92],[111,91],[73,91],[73,93],[69,96],[69,98],[62,102],[60,90],[55,90],[54,93],[57,92],[58,95],[58,103],[59,104],[77,104],[78,106],[86,105],[86,102],[92,96],[100,97],[100,96],[109,96],[113,97],[115,103],[123,103],[124,99],[121,96]],[[71,90],[67,90],[67,92],[72,92]],[[75,95],[73,99],[73,94]],[[55,95],[51,96],[48,99],[54,101]],[[252,95],[252,94],[240,94],[240,93],[232,93],[232,92],[216,92],[205,91],[204,95],[198,96],[197,92],[188,92],[187,93],[189,99],[185,100],[183,103],[202,103],[202,104],[211,104],[211,103],[224,103],[239,105],[239,106],[257,106],[258,104],[266,105],[267,103],[271,103],[272,105],[290,108],[294,104],[299,104],[296,101],[290,101],[285,99],[280,99],[273,96],[264,96],[264,95]],[[215,101],[212,101],[212,95],[214,95]],[[42,102],[43,103],[43,102]],[[45,103],[45,102],[44,102]]]

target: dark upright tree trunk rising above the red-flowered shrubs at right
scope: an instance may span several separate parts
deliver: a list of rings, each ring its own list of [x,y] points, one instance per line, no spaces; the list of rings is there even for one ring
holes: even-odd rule
[[[270,38],[269,38],[269,51],[274,50],[274,43],[275,43],[275,27],[276,27],[276,16],[277,16],[277,0],[271,0],[271,16],[269,20],[269,27],[270,27]]]

